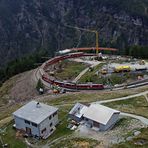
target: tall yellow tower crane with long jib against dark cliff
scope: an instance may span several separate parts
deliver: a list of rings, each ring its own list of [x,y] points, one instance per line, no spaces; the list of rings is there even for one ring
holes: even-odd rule
[[[80,27],[74,27],[71,25],[65,25],[65,26],[69,27],[69,28],[74,28],[74,29],[78,29],[78,30],[82,30],[82,31],[95,33],[96,34],[96,54],[98,55],[98,53],[99,53],[99,32],[97,30],[90,30],[90,29],[85,29],[85,28],[80,28]]]

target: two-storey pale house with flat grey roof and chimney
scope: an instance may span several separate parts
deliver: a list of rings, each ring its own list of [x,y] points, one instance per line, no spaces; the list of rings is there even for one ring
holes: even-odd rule
[[[46,139],[56,129],[57,112],[58,108],[31,101],[13,113],[16,129]]]

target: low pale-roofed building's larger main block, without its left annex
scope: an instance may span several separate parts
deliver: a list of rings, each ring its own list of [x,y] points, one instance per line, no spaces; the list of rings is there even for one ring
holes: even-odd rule
[[[118,120],[120,112],[100,104],[91,104],[84,112],[86,124],[100,131],[111,129]]]

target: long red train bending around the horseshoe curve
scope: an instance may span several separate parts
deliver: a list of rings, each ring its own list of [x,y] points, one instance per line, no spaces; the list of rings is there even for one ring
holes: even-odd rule
[[[66,88],[66,89],[73,89],[73,90],[101,90],[101,89],[104,89],[103,84],[74,84],[74,83],[61,82],[58,80],[50,79],[45,72],[48,66],[53,65],[59,61],[69,59],[69,58],[83,57],[83,56],[94,56],[94,54],[85,54],[82,52],[78,52],[78,53],[68,54],[68,55],[64,55],[64,56],[58,56],[58,57],[55,57],[55,58],[47,61],[46,63],[44,63],[42,65],[43,70],[42,70],[42,72],[40,72],[42,75],[42,79],[44,81],[50,83],[51,85],[55,84],[55,85],[58,85],[59,87]]]

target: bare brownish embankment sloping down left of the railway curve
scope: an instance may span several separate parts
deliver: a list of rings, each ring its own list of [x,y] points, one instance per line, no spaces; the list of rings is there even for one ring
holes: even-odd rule
[[[16,75],[0,87],[0,107],[28,101],[38,95],[34,72],[31,70]]]

